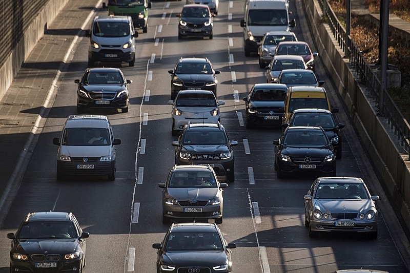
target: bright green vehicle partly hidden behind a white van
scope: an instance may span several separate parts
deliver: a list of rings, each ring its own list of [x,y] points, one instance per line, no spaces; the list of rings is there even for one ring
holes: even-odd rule
[[[131,16],[134,27],[141,28],[144,33],[147,32],[150,0],[109,0],[108,5],[103,3],[103,8],[107,7],[108,15]]]

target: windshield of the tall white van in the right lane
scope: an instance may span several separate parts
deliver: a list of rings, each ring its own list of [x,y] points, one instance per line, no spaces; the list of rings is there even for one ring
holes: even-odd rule
[[[288,26],[286,10],[256,10],[248,13],[248,26]]]

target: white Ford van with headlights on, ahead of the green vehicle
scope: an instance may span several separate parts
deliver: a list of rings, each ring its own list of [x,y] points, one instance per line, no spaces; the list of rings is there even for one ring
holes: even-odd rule
[[[88,47],[88,66],[94,62],[128,62],[130,67],[135,63],[135,39],[138,32],[134,30],[131,16],[95,16],[90,30]]]

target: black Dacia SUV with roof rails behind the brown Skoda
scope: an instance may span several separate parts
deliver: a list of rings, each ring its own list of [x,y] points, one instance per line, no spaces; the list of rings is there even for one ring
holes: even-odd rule
[[[235,157],[232,146],[238,145],[238,142],[229,141],[227,132],[220,122],[189,122],[172,145],[175,146],[175,164],[209,164],[219,180],[235,181]]]

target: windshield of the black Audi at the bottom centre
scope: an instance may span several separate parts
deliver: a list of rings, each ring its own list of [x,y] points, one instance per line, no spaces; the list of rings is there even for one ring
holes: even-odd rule
[[[165,247],[172,250],[222,250],[222,242],[217,233],[171,233]]]

